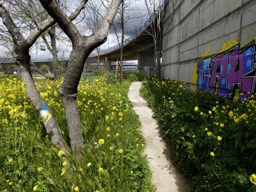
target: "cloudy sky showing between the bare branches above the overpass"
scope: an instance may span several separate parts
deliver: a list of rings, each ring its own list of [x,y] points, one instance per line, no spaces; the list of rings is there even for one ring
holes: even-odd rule
[[[66,2],[64,2],[66,1]],[[102,0],[89,0],[89,2],[101,2]],[[104,0],[105,1],[105,0]],[[130,0],[132,1],[132,5],[130,7],[132,7],[131,11],[129,12],[129,15],[132,16],[128,16],[127,14],[125,14],[125,20],[129,17],[130,20],[129,22],[126,23],[126,35],[125,38],[128,38],[129,36],[131,36],[135,30],[137,30],[137,28],[140,27],[140,25],[142,25],[142,23],[147,19],[148,14],[147,14],[147,9],[145,6],[145,2],[144,0],[140,0],[140,1],[136,1],[136,0]],[[106,1],[105,1],[106,2]],[[74,11],[76,9],[76,7],[79,5],[80,0],[62,0],[62,3],[66,3],[66,7],[67,7],[67,12],[66,14],[69,15],[72,11]],[[82,18],[84,17],[86,10],[83,10],[83,12],[80,13],[79,17],[77,17],[76,20],[73,21],[73,23],[77,23],[77,27],[80,29],[80,31],[84,34],[84,35],[88,35],[87,33],[87,28],[85,27],[85,22],[80,22],[82,20]],[[105,11],[106,9],[102,9],[101,10],[101,14],[105,15]],[[134,15],[140,15],[139,18],[134,17]],[[117,17],[118,15],[116,15]],[[2,24],[2,21],[0,19],[0,23]],[[1,25],[0,25],[1,27]],[[82,29],[82,30],[81,30]],[[62,33],[62,35],[65,35],[64,33]],[[114,33],[113,27],[109,30],[109,35],[108,35],[108,40],[101,45],[101,50],[103,49],[108,49],[111,46],[114,46],[117,44],[117,38],[116,38],[116,34]],[[7,54],[7,49],[1,47],[1,50],[5,50],[5,51],[1,51],[0,52],[0,57],[6,56]],[[42,40],[38,40],[37,44],[34,45],[31,49],[30,49],[30,55],[32,56],[32,59],[51,59],[51,54],[50,52],[47,50],[45,50],[46,46],[43,43]],[[58,41],[57,42],[57,48],[59,51],[59,57],[63,57],[67,58],[69,57],[69,53],[72,50],[71,47],[71,43],[69,41]]]

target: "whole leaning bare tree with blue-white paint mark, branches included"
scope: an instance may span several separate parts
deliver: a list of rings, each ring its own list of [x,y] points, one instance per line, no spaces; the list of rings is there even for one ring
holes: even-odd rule
[[[67,17],[67,19],[74,20],[75,17],[79,15],[80,11],[85,7],[86,3],[86,0],[82,1],[79,7],[69,16],[69,18]],[[12,36],[15,62],[19,67],[20,78],[25,83],[28,98],[30,101],[32,101],[35,108],[40,111],[43,123],[46,127],[46,132],[48,133],[53,144],[56,144],[61,149],[68,151],[69,148],[67,147],[66,141],[59,131],[58,123],[56,122],[51,109],[49,109],[48,104],[43,98],[41,98],[39,91],[36,89],[30,69],[29,49],[35,43],[36,39],[47,28],[54,25],[54,19],[48,16],[45,20],[43,20],[43,22],[40,23],[40,25],[38,25],[38,27],[33,28],[33,30],[28,34],[27,38],[25,38],[25,34],[22,34],[20,27],[17,27],[17,24],[14,23],[14,20],[2,3],[0,3],[0,17],[2,18],[2,23],[4,23]],[[20,23],[18,24],[20,25]],[[22,26],[22,23],[20,26]]]

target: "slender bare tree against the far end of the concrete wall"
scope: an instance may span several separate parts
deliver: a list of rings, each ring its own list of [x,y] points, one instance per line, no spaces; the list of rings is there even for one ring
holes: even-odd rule
[[[166,1],[164,0],[144,0],[144,2],[147,7],[148,15],[151,19],[149,26],[145,26],[145,31],[153,37],[156,76],[161,77],[163,37],[168,32],[169,27],[173,22],[177,0],[169,0],[169,7],[166,7]]]

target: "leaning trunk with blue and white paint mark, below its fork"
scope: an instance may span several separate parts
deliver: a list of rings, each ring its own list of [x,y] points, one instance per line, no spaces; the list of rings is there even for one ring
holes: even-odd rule
[[[46,133],[49,135],[49,139],[62,150],[68,151],[66,141],[59,131],[58,123],[56,122],[51,109],[46,101],[41,98],[40,93],[36,89],[30,70],[29,54],[17,54],[17,56],[19,56],[16,57],[16,62],[19,65],[19,75],[23,83],[25,83],[25,90],[27,92],[28,99],[32,101],[33,106],[35,106],[35,108],[40,112],[46,128]]]

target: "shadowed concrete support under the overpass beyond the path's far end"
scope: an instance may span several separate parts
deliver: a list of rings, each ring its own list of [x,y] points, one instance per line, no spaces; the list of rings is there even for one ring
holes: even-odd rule
[[[149,75],[155,74],[154,54],[153,53],[139,53],[138,69],[140,73]]]

